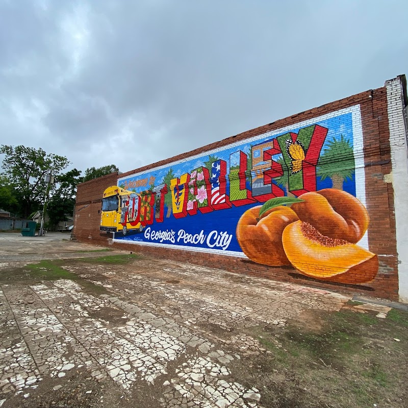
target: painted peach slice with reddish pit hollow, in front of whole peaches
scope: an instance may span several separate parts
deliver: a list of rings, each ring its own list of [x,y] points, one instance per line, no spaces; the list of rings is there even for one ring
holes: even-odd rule
[[[378,271],[376,254],[343,239],[324,236],[306,222],[288,225],[282,241],[290,263],[304,275],[363,283],[371,281]]]

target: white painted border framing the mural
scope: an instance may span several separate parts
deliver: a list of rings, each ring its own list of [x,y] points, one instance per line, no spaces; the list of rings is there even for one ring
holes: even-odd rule
[[[254,141],[258,141],[260,139],[263,139],[265,137],[271,137],[275,135],[279,135],[282,133],[290,132],[293,131],[294,129],[297,129],[299,127],[305,127],[308,125],[313,125],[316,122],[326,120],[329,118],[333,118],[336,116],[344,115],[347,113],[351,113],[352,116],[352,127],[353,127],[353,152],[354,152],[354,162],[355,162],[355,195],[356,197],[363,203],[364,206],[366,206],[366,180],[365,180],[365,169],[364,169],[364,141],[363,141],[363,126],[361,122],[361,111],[360,111],[360,105],[354,105],[349,108],[344,108],[340,109],[338,111],[333,111],[330,113],[327,113],[325,115],[313,117],[312,119],[304,120],[302,122],[296,122],[288,126],[281,127],[280,129],[276,129],[274,131],[266,132],[263,133],[262,135],[254,136],[248,139],[244,140],[239,140],[237,142],[232,142],[230,144],[227,144],[222,147],[218,147],[216,149],[212,150],[206,150],[206,151],[201,151],[199,154],[194,155],[194,156],[189,156],[188,159],[196,159],[196,158],[202,158],[203,155],[211,155],[214,154],[218,151],[222,151],[225,148],[232,148],[235,146],[242,145],[242,143],[251,143]],[[122,180],[129,179],[130,177],[134,176],[142,176],[143,174],[147,172],[151,172],[154,169],[162,169],[165,167],[169,166],[175,166],[179,163],[182,163],[185,161],[185,159],[177,160],[174,162],[166,163],[162,166],[157,166],[150,168],[145,171],[141,171],[139,173],[133,173],[133,174],[128,174],[125,177],[121,177],[117,181],[117,185],[119,186]],[[172,245],[172,244],[160,244],[160,243],[155,243],[155,242],[146,242],[146,241],[123,241],[119,239],[115,239],[115,235],[113,237],[113,242],[119,242],[119,243],[126,243],[126,244],[139,244],[139,245],[149,245],[149,246],[157,246],[161,248],[174,248],[174,249],[179,249],[179,250],[189,250],[189,251],[195,251],[195,252],[209,252],[209,253],[219,253],[223,254],[226,256],[233,256],[233,257],[240,257],[240,258],[246,258],[245,254],[243,252],[236,252],[236,251],[228,251],[228,250],[222,250],[222,249],[212,249],[212,248],[197,248],[193,246],[181,246],[181,245]],[[364,247],[365,249],[368,249],[368,236],[367,232],[363,236],[363,238],[360,240],[358,243],[360,246]]]

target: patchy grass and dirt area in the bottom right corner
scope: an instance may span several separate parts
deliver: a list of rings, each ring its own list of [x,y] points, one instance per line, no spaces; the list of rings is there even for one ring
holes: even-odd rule
[[[348,309],[313,314],[321,319],[318,328],[307,319],[248,328],[267,352],[247,357],[250,365],[235,363],[234,380],[251,378],[247,385],[261,390],[265,407],[403,408],[408,313],[392,310],[387,319]]]

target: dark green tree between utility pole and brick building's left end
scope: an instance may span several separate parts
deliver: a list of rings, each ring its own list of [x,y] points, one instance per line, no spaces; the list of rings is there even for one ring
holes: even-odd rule
[[[81,171],[77,169],[69,170],[56,177],[56,187],[47,206],[50,227],[53,228],[59,221],[67,221],[67,214],[73,214],[77,185],[80,181]]]

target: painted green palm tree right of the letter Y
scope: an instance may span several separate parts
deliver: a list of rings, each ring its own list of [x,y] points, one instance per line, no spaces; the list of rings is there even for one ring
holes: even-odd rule
[[[327,143],[327,148],[320,156],[317,175],[321,180],[329,178],[333,188],[343,190],[343,183],[351,180],[355,170],[353,147],[350,141],[341,135]]]

